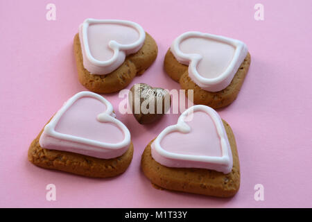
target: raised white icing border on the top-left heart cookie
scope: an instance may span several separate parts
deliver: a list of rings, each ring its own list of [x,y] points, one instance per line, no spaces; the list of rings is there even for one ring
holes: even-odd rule
[[[119,44],[118,42],[111,40],[108,45],[110,46],[111,49],[114,50],[114,56],[112,56],[110,60],[106,61],[96,60],[92,56],[89,49],[87,28],[89,27],[90,24],[122,24],[125,26],[131,26],[132,28],[135,28],[139,33],[139,39],[132,44]],[[95,65],[97,67],[107,67],[109,65],[112,65],[114,62],[116,62],[119,56],[119,51],[125,51],[126,54],[135,53],[136,51],[139,51],[137,47],[141,46],[141,44],[143,44],[145,41],[144,29],[135,22],[118,19],[85,19],[85,21],[83,22],[83,24],[81,24],[81,26],[83,28],[83,46],[85,49],[85,56],[87,56],[87,60],[89,60],[89,62],[91,62],[92,65]]]

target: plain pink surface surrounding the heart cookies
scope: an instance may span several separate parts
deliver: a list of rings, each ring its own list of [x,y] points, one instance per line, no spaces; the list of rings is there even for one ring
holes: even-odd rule
[[[56,21],[46,20],[55,3]],[[254,20],[263,3],[265,20]],[[234,130],[241,188],[220,199],[154,189],[141,172],[142,151],[177,121],[141,126],[121,115],[118,94],[105,95],[132,133],[135,154],[117,178],[92,179],[33,166],[27,150],[70,96],[77,78],[73,35],[85,18],[128,19],[157,41],[156,62],[134,83],[180,89],[163,71],[171,42],[185,31],[242,40],[252,64],[239,97],[220,116]],[[312,1],[0,1],[0,207],[312,207]],[[128,88],[130,88],[130,86]],[[46,200],[53,183],[57,200]],[[254,200],[254,185],[264,201]]]

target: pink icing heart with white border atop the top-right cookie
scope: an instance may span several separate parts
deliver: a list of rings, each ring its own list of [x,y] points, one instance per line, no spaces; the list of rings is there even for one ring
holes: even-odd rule
[[[184,65],[200,88],[218,92],[231,83],[248,54],[245,43],[229,37],[187,32],[177,37],[171,52]]]

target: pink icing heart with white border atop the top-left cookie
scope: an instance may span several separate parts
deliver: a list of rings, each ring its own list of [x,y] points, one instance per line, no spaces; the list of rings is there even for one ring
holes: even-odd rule
[[[141,49],[145,37],[135,22],[86,19],[79,28],[83,65],[91,74],[109,74]]]

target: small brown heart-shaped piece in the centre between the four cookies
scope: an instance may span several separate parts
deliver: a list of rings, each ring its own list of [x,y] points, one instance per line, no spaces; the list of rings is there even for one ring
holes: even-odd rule
[[[132,114],[141,124],[153,123],[171,106],[171,97],[166,89],[154,88],[145,83],[132,86],[128,98]]]

